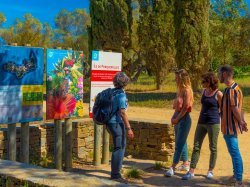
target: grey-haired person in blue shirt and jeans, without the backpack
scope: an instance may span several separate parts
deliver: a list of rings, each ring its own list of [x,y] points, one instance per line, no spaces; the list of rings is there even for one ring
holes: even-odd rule
[[[128,138],[134,138],[126,109],[128,107],[127,96],[124,88],[127,86],[129,78],[123,72],[119,72],[114,76],[114,100],[113,100],[113,116],[106,124],[107,130],[112,136],[114,149],[111,158],[111,179],[118,182],[127,183],[122,178],[121,168],[126,147],[126,135]]]

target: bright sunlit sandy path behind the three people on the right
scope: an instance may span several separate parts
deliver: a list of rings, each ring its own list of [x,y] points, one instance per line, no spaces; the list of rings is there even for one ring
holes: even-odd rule
[[[169,109],[154,109],[154,108],[140,108],[140,107],[130,107],[128,110],[129,118],[136,117],[136,118],[141,118],[141,119],[159,119],[159,120],[166,120],[166,121],[170,121],[172,113],[173,111]],[[192,127],[188,136],[188,146],[190,149],[193,148],[194,133],[195,133],[195,128],[197,125],[198,117],[199,117],[199,111],[193,110],[191,113],[191,117],[192,117]],[[245,120],[248,124],[250,124],[250,114],[246,114]],[[241,155],[243,157],[243,163],[244,163],[244,179],[248,180],[247,182],[250,181],[250,163],[249,163],[250,162],[250,136],[249,136],[250,134],[249,133],[250,132],[244,133],[239,136],[239,146],[240,146]],[[203,146],[202,146],[200,160],[198,162],[197,169],[196,169],[197,175],[204,175],[204,176],[206,175],[208,164],[209,164],[209,156],[210,156],[210,153],[209,153],[208,137],[206,136]],[[190,157],[191,155],[189,155],[189,158]],[[158,172],[156,172],[155,175],[157,176]],[[228,176],[232,176],[231,157],[228,154],[227,147],[226,147],[225,141],[221,133],[218,139],[218,158],[217,158],[216,168],[214,170],[214,175],[216,176],[217,180],[219,179],[221,180],[221,179],[227,178]],[[160,173],[160,176],[162,176],[162,173]],[[181,178],[181,176],[182,175],[177,176],[177,178]],[[198,182],[200,179],[202,178],[204,179],[204,176],[196,177]],[[160,185],[161,182],[157,182],[157,181],[158,180],[155,181],[155,184]],[[173,184],[172,182],[171,184]],[[185,185],[185,183],[183,183],[183,181],[180,181],[178,185]],[[207,184],[205,186],[207,186]],[[211,186],[214,186],[214,185],[212,185],[211,183]]]

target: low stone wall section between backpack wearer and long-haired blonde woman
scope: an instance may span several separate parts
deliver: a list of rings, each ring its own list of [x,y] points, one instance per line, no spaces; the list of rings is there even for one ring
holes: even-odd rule
[[[131,120],[135,138],[128,140],[127,154],[135,158],[169,161],[174,151],[174,130],[165,121]]]

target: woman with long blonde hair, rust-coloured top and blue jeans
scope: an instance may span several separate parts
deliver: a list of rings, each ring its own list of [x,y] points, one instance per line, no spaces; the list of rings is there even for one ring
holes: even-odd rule
[[[193,105],[193,90],[188,72],[180,69],[175,72],[175,81],[177,84],[177,97],[174,101],[174,115],[171,123],[175,125],[175,152],[172,166],[166,171],[165,176],[174,175],[174,170],[180,161],[181,155],[186,153],[186,160],[183,164],[188,164],[187,156],[187,137],[191,128],[192,120],[190,112]]]

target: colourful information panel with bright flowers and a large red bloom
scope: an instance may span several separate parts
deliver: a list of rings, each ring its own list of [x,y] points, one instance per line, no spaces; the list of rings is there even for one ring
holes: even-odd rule
[[[83,117],[83,52],[47,50],[47,119]]]

